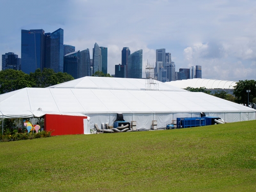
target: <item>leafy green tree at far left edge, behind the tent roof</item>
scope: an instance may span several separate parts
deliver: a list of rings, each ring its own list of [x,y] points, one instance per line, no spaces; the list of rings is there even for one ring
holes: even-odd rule
[[[28,74],[22,71],[6,69],[0,71],[0,86],[0,93],[3,94],[27,87],[31,88],[34,83]]]

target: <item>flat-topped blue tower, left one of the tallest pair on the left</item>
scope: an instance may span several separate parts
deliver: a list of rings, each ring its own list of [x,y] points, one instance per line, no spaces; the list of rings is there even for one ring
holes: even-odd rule
[[[45,63],[45,31],[42,29],[22,30],[21,70],[30,74],[43,69]]]

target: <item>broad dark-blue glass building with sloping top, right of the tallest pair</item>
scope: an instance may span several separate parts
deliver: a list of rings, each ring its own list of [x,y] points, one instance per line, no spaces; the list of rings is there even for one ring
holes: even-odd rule
[[[64,72],[72,75],[75,79],[79,78],[78,69],[80,67],[80,51],[68,53],[64,57]]]

